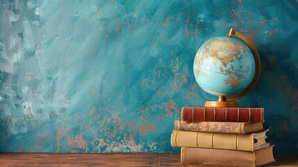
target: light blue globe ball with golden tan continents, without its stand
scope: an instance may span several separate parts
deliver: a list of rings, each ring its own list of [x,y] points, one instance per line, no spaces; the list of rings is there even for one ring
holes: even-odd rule
[[[242,41],[230,37],[207,40],[196,52],[194,76],[207,93],[233,96],[242,93],[251,84],[256,63]]]

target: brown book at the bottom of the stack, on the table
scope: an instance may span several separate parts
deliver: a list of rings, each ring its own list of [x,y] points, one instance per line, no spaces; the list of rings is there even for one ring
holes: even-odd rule
[[[253,152],[206,148],[181,148],[181,163],[225,166],[262,166],[275,161],[273,145]]]

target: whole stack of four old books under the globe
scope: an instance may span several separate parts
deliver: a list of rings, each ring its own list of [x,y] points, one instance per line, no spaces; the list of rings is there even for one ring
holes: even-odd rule
[[[171,145],[181,148],[183,164],[262,166],[275,161],[266,142],[264,108],[182,108]]]

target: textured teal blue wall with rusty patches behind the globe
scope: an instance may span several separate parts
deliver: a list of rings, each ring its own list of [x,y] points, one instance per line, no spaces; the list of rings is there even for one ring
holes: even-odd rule
[[[0,152],[179,152],[196,50],[233,27],[256,45],[274,152],[298,152],[297,1],[0,1]]]

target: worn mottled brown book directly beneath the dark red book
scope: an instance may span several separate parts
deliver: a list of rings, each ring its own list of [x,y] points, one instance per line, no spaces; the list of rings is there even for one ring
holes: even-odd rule
[[[175,120],[175,130],[247,134],[263,129],[261,122],[184,122]]]

